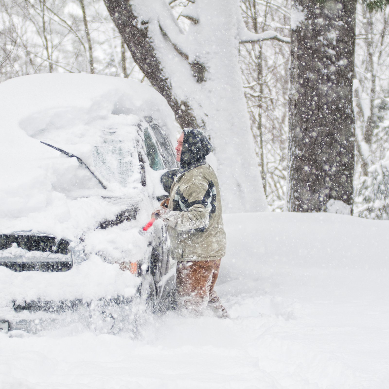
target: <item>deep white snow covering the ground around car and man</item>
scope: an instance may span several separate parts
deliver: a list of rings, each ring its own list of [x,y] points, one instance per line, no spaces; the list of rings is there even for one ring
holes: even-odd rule
[[[231,320],[148,317],[137,339],[0,334],[0,388],[389,387],[389,224],[331,214],[224,217]]]

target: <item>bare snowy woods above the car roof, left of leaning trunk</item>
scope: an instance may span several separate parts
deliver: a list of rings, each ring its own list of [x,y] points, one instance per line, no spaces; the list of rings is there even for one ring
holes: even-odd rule
[[[0,47],[6,53],[0,48],[0,81],[57,71],[128,76],[121,37],[103,2],[0,0]],[[126,47],[123,54],[131,76],[141,80]]]

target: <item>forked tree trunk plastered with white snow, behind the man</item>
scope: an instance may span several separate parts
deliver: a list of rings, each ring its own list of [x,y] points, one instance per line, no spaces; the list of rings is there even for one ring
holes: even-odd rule
[[[104,0],[134,60],[177,122],[205,126],[214,145],[224,212],[266,210],[238,63],[238,0],[196,0],[180,29],[165,0]]]

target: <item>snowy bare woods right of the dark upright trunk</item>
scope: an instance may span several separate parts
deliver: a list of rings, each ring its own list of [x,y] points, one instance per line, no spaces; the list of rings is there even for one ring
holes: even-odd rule
[[[377,13],[358,8],[355,212],[372,219],[389,219],[388,30],[389,9]]]

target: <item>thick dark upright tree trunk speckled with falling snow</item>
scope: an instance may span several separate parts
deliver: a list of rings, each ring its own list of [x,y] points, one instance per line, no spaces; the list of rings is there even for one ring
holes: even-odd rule
[[[356,0],[295,0],[288,210],[352,214]]]

